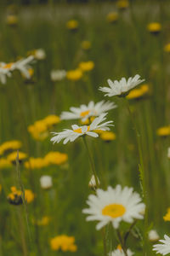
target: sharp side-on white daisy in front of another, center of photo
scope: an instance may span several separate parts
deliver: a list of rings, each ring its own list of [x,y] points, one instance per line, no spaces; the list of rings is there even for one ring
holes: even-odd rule
[[[98,118],[95,118],[94,121],[91,123],[91,125],[71,125],[72,129],[65,129],[61,132],[52,132],[54,133],[54,137],[51,138],[51,141],[54,143],[59,143],[61,140],[64,139],[64,144],[68,142],[74,142],[78,137],[82,135],[88,135],[91,137],[99,137],[99,135],[95,132],[96,130],[101,131],[108,131],[110,130],[109,126],[111,126],[111,123],[113,121],[107,121],[105,123],[102,123],[105,121],[105,116],[107,113],[102,113],[99,115]],[[102,123],[102,124],[101,124]],[[113,126],[113,125],[112,125]]]

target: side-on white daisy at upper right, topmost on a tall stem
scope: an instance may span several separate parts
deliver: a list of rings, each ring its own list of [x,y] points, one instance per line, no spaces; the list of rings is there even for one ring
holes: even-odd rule
[[[107,82],[110,87],[99,87],[99,90],[106,92],[105,96],[120,96],[127,95],[127,91],[133,89],[138,84],[144,82],[144,79],[139,79],[139,74],[136,74],[133,78],[122,78],[120,81],[108,79]]]

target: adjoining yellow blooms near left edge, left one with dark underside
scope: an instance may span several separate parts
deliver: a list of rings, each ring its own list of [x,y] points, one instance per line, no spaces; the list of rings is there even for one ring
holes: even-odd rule
[[[13,205],[22,204],[22,192],[16,187],[11,187],[11,193],[8,194],[8,201]],[[27,203],[31,203],[34,200],[35,195],[32,193],[31,189],[25,190],[25,198]]]

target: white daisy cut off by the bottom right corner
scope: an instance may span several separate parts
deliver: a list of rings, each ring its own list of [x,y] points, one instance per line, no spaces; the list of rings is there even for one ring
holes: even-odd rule
[[[164,238],[165,240],[159,240],[162,244],[155,244],[153,246],[153,251],[161,253],[162,255],[167,255],[167,253],[170,253],[170,237],[165,235]]]

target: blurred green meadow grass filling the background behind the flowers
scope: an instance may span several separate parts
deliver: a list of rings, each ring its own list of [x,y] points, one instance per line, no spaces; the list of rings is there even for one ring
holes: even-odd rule
[[[19,73],[9,78],[7,84],[0,84],[0,143],[19,139],[23,143],[22,151],[33,157],[42,157],[50,150],[69,155],[69,166],[65,169],[47,167],[28,172],[20,166],[25,188],[32,189],[36,194],[35,201],[27,206],[31,241],[23,207],[11,206],[7,201],[10,187],[18,183],[16,168],[0,170],[0,183],[3,185],[0,195],[0,255],[71,255],[51,251],[50,238],[60,234],[76,237],[78,250],[72,254],[103,255],[101,232],[95,230],[93,222],[86,222],[82,214],[91,193],[88,189],[91,171],[82,139],[66,145],[53,145],[49,135],[45,141],[36,142],[28,133],[27,126],[48,114],[59,115],[71,106],[78,107],[91,100],[99,102],[104,95],[98,88],[106,85],[107,79],[128,78],[136,73],[150,86],[150,96],[130,102],[141,135],[149,225],[153,224],[161,237],[165,233],[168,235],[168,223],[162,217],[170,207],[169,137],[157,137],[156,129],[170,123],[170,56],[163,50],[164,45],[170,42],[170,3],[133,1],[129,9],[119,13],[116,24],[109,24],[105,19],[112,10],[116,10],[115,3],[19,6],[19,24],[14,27],[5,22],[7,9],[0,10],[0,61],[26,57],[31,49],[42,48],[47,54],[44,61],[33,64],[33,84],[26,84]],[[79,22],[76,32],[65,28],[66,21],[70,19]],[[161,22],[162,31],[157,36],[146,29],[152,21]],[[91,49],[86,51],[81,48],[83,40],[91,42]],[[70,70],[76,68],[80,61],[88,60],[94,61],[94,70],[76,83],[65,79],[54,84],[50,80],[49,73],[53,68]],[[88,138],[99,179],[102,185],[114,187],[121,183],[122,186],[133,186],[141,193],[138,147],[126,105],[122,98],[105,97],[105,100],[114,101],[118,106],[108,115],[108,119],[114,120],[115,127],[111,131],[116,133],[116,141],[104,143],[100,139]],[[74,122],[77,121],[63,121],[54,131],[69,129]],[[39,184],[42,174],[53,177],[53,189],[42,191]],[[51,218],[48,226],[32,224],[32,218],[44,215]],[[137,225],[143,230],[143,221]],[[125,228],[126,225],[122,227]],[[108,236],[115,248],[118,241],[114,232],[112,236],[110,233]],[[23,253],[21,237],[26,240],[28,253]],[[130,237],[127,245],[138,252],[135,255],[143,254],[137,239]],[[152,255],[150,247],[147,255]],[[108,248],[111,248],[111,243]]]

